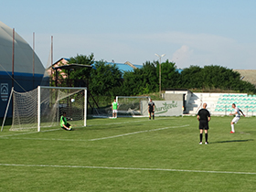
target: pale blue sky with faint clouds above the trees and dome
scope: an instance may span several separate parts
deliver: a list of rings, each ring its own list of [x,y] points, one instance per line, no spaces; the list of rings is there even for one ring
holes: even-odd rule
[[[162,59],[178,69],[220,65],[256,69],[256,0],[0,0],[0,20],[46,66],[90,55],[143,64]]]

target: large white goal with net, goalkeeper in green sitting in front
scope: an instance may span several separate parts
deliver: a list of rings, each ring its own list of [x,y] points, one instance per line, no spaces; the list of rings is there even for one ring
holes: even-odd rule
[[[38,86],[27,92],[13,90],[11,96],[13,122],[10,131],[37,129],[40,132],[42,128],[60,128],[62,112],[66,112],[72,127],[86,126],[86,88]]]

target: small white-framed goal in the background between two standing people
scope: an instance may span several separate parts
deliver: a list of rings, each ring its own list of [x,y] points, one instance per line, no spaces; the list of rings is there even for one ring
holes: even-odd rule
[[[116,96],[118,116],[147,116],[148,96]]]

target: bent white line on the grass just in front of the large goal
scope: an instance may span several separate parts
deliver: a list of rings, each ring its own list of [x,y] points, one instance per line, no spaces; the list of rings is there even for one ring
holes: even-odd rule
[[[144,131],[139,131],[139,132],[132,132],[132,133],[123,133],[123,134],[118,134],[118,135],[113,135],[113,136],[108,136],[108,137],[101,137],[101,138],[96,138],[96,139],[56,139],[56,138],[30,138],[30,137],[10,137],[10,136],[2,136],[0,138],[3,139],[19,139],[19,140],[45,140],[45,141],[69,141],[69,142],[93,142],[93,141],[99,141],[99,140],[104,140],[104,139],[112,139],[116,137],[122,137],[122,136],[127,136],[127,135],[132,135],[132,134],[137,134],[137,133],[148,133],[148,132],[156,132],[156,131],[161,131],[165,129],[174,129],[174,128],[181,128],[181,127],[187,127],[189,124],[181,125],[181,126],[171,126],[171,127],[164,127],[164,128],[157,128],[157,129],[152,129],[152,130],[144,130]],[[18,134],[16,134],[18,135]]]

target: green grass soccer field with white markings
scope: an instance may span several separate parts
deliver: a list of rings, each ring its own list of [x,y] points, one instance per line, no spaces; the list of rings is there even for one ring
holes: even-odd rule
[[[255,117],[91,119],[74,131],[0,133],[0,191],[255,191]],[[71,122],[70,122],[71,123]],[[204,142],[204,140],[203,140]]]

